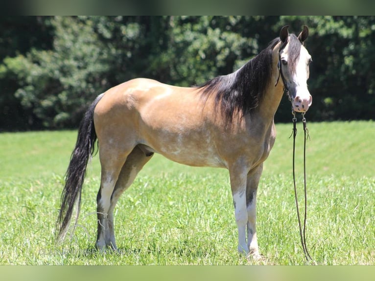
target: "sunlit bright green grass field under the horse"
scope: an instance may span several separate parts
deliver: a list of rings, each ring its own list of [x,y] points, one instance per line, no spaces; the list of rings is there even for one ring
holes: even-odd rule
[[[76,132],[2,133],[0,264],[305,264],[292,186],[291,127],[277,125],[259,184],[257,230],[264,261],[237,253],[228,172],[175,164],[159,155],[117,204],[118,253],[93,250],[97,156],[89,166],[76,231],[56,245],[54,225]],[[308,128],[309,252],[318,264],[375,264],[375,123],[324,122]]]

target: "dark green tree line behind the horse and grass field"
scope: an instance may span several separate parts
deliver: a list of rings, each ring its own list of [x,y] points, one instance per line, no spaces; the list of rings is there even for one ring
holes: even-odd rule
[[[372,119],[374,16],[82,16],[0,19],[0,131],[76,128],[95,96],[136,77],[199,85],[309,27],[309,120]],[[276,121],[291,118],[283,98]]]

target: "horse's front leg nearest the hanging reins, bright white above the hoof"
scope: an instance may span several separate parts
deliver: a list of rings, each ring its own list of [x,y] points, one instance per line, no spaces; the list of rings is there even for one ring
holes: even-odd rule
[[[246,183],[246,206],[247,206],[247,246],[253,258],[261,258],[257,240],[257,190],[260,176],[262,174],[263,164],[256,169],[251,170],[247,175]]]

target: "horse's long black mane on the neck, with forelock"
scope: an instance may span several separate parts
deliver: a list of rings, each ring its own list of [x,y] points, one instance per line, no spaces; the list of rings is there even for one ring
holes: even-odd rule
[[[272,72],[272,50],[280,42],[275,38],[268,47],[248,61],[239,70],[215,77],[199,87],[202,96],[215,94],[215,106],[220,106],[227,124],[231,124],[234,114],[252,114],[259,105],[270,83]],[[294,34],[289,37],[288,53],[295,65],[300,54],[301,42]]]

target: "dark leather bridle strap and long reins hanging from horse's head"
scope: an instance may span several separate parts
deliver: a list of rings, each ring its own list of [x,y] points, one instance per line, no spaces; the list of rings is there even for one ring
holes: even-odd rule
[[[282,74],[282,69],[281,69],[281,50],[283,49],[283,47],[285,47],[287,44],[287,42],[285,42],[279,49],[279,62],[278,62],[278,69],[279,69],[279,77],[276,81],[276,84],[275,84],[275,87],[277,86],[277,84],[279,83],[279,79],[281,77],[281,80],[282,80],[282,84],[283,84],[283,93],[285,93],[287,96],[288,96],[288,99],[290,100],[290,102],[292,102],[292,99],[290,97],[290,94],[289,94],[289,89],[287,87],[287,84],[286,84],[286,81],[285,81],[285,77],[284,75]],[[296,209],[297,209],[297,218],[298,218],[298,226],[299,226],[299,229],[300,229],[300,237],[301,237],[301,244],[302,244],[302,248],[304,250],[304,254],[305,254],[305,258],[307,261],[313,261],[313,259],[311,258],[310,254],[308,253],[307,251],[307,247],[306,247],[306,217],[307,217],[307,192],[306,192],[306,140],[307,139],[310,139],[310,136],[308,134],[308,129],[307,129],[307,126],[306,126],[306,118],[305,118],[305,112],[302,113],[302,123],[303,123],[303,128],[304,128],[304,134],[305,134],[305,137],[304,137],[304,190],[305,190],[305,214],[304,214],[304,225],[303,225],[303,228],[302,228],[302,223],[301,223],[301,215],[300,215],[300,210],[299,210],[299,207],[298,207],[298,196],[297,196],[297,187],[296,187],[296,176],[295,176],[295,147],[296,147],[296,136],[297,136],[297,126],[296,126],[296,123],[297,123],[297,117],[296,117],[296,112],[294,111],[293,107],[292,107],[292,115],[293,115],[293,131],[292,131],[292,134],[290,135],[290,137],[293,136],[293,185],[294,185],[294,197],[295,197],[295,201],[296,201]],[[289,137],[289,138],[290,138]]]

